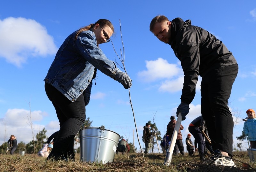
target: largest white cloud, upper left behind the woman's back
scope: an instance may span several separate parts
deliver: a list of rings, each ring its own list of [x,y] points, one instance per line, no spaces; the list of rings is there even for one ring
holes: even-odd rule
[[[28,57],[56,52],[52,36],[35,20],[21,17],[0,20],[0,57],[7,62],[20,67]]]

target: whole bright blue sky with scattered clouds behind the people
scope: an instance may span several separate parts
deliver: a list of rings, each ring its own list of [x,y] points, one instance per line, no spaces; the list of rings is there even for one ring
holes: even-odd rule
[[[0,144],[11,134],[18,142],[32,140],[29,125],[36,133],[44,127],[47,136],[59,130],[55,109],[44,91],[44,77],[64,39],[82,26],[100,18],[115,27],[111,37],[117,53],[122,50],[120,24],[125,48],[125,68],[132,79],[131,99],[140,143],[143,126],[154,121],[162,136],[170,116],[180,104],[183,73],[171,47],[160,42],[150,31],[156,15],[172,20],[190,19],[220,39],[231,51],[239,72],[229,99],[236,122],[236,136],[243,130],[242,118],[247,109],[255,109],[256,99],[256,1],[227,0],[206,2],[180,1],[4,1],[0,10]],[[117,58],[111,43],[101,44],[106,56]],[[120,55],[120,53],[119,53]],[[117,60],[118,62],[118,60]],[[135,125],[129,104],[128,90],[98,71],[96,85],[86,107],[86,118],[92,126],[104,125],[129,142],[133,141]],[[185,138],[188,124],[200,114],[200,78],[190,112],[182,121]],[[175,115],[176,116],[176,115]],[[139,144],[135,133],[135,147]],[[244,144],[244,148],[248,144]],[[185,148],[186,149],[186,148]]]

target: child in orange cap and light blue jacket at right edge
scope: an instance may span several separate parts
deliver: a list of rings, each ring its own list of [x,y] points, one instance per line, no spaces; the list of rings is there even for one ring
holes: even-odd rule
[[[248,136],[248,140],[250,141],[250,145],[252,149],[256,148],[256,116],[255,111],[253,109],[248,109],[247,113],[247,121],[244,122],[244,135]]]

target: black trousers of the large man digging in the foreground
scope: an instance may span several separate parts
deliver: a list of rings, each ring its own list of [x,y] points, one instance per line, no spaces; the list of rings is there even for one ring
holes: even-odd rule
[[[228,108],[238,65],[211,70],[201,82],[201,112],[206,122],[213,150],[219,149],[232,157],[233,118]]]

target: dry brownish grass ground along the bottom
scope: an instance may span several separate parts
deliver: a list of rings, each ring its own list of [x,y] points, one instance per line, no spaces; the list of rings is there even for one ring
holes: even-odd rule
[[[251,162],[247,152],[234,154],[233,161],[237,168],[228,168],[215,166],[212,164],[203,164],[199,157],[176,155],[172,157],[170,166],[164,166],[165,155],[147,154],[145,162],[140,154],[118,154],[115,155],[114,162],[101,164],[79,161],[79,154],[76,155],[76,161],[45,161],[45,158],[35,155],[25,154],[25,156],[1,155],[0,171],[43,171],[43,172],[81,172],[81,171],[188,171],[188,172],[217,172],[217,171],[256,171],[256,163]]]

